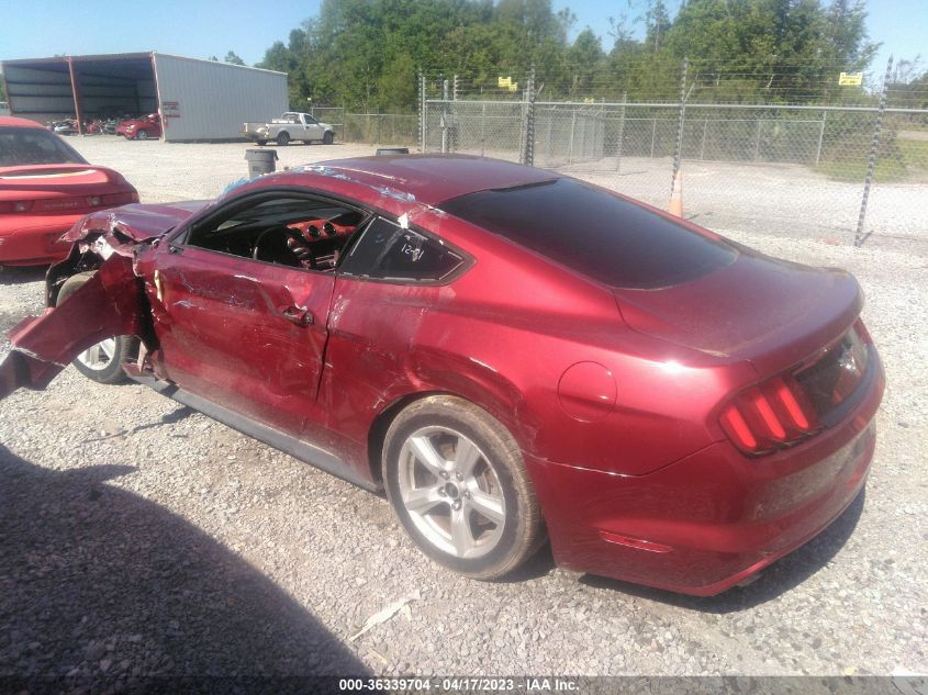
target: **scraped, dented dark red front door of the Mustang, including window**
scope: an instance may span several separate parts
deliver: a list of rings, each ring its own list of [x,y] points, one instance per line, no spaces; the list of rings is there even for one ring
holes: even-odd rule
[[[316,407],[335,278],[253,256],[262,231],[299,217],[281,218],[279,209],[300,201],[306,218],[324,204],[261,194],[193,223],[157,249],[146,288],[168,379],[291,435]]]

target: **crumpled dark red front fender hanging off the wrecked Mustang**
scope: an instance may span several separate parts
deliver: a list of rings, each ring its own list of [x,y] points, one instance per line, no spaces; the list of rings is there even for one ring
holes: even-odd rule
[[[114,254],[57,307],[21,321],[0,363],[0,399],[19,388],[44,389],[78,355],[120,335],[148,335],[148,301],[133,259]]]

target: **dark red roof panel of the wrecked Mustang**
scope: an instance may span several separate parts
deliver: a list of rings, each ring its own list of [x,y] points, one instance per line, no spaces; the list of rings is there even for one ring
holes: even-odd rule
[[[554,181],[560,175],[512,161],[467,155],[394,155],[323,161],[315,167],[372,188],[409,193],[426,205],[468,193]]]

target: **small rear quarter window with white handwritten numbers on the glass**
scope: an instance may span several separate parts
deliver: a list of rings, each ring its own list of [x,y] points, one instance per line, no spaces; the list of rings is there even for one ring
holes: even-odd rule
[[[362,278],[435,281],[449,276],[462,262],[459,254],[437,239],[376,217],[340,270]]]

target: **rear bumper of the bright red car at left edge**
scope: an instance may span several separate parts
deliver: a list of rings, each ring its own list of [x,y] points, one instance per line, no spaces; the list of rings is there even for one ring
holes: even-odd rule
[[[71,245],[58,239],[85,214],[0,218],[0,266],[42,266],[66,258]]]

